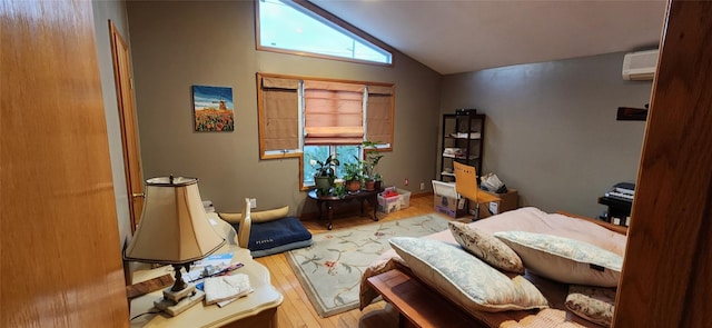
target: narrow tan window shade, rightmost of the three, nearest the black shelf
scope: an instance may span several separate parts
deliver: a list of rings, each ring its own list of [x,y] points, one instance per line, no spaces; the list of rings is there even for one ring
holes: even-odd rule
[[[393,145],[393,86],[368,86],[366,139]]]

